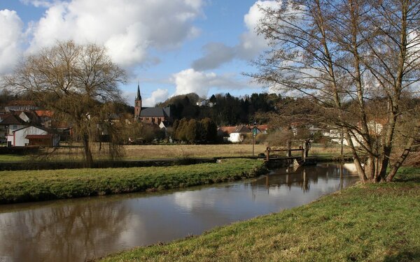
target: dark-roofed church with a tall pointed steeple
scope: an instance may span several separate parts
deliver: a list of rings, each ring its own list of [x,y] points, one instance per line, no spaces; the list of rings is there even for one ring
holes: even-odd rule
[[[140,85],[137,85],[137,96],[134,100],[134,120],[166,127],[172,123],[171,108],[169,106],[166,108],[142,108]]]

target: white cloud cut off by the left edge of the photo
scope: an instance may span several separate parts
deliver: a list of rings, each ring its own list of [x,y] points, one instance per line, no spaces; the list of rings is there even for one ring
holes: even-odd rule
[[[0,10],[0,75],[10,73],[20,57],[22,27],[15,11]]]

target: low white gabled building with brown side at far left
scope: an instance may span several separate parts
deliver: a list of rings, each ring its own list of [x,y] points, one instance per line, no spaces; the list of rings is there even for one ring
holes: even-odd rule
[[[14,147],[25,147],[27,145],[57,146],[59,136],[48,133],[40,127],[27,126],[13,131],[13,136],[8,136],[8,141]]]

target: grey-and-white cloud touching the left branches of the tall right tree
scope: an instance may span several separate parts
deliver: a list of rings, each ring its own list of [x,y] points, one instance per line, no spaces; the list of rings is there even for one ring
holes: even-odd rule
[[[229,47],[223,43],[204,45],[204,57],[195,60],[193,68],[196,70],[214,69],[235,58],[244,60],[255,58],[268,47],[267,40],[263,36],[258,36],[255,31],[264,16],[260,7],[276,8],[279,4],[277,1],[256,1],[249,8],[248,13],[244,15],[244,24],[247,30],[241,34],[239,44],[234,47]]]

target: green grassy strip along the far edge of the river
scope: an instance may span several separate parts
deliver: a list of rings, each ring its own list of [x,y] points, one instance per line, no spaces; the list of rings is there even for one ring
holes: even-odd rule
[[[253,159],[190,166],[2,171],[0,203],[190,187],[253,177],[264,171],[263,162]]]

